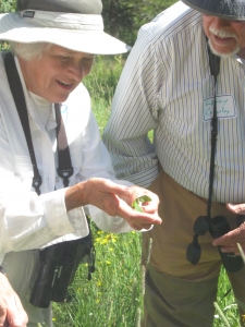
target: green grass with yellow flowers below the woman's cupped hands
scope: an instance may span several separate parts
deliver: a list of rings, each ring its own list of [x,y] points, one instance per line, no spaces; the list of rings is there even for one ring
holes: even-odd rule
[[[87,280],[81,265],[72,286],[72,303],[56,305],[54,326],[135,326],[140,306],[140,239],[138,233],[109,234],[94,229],[96,271]]]

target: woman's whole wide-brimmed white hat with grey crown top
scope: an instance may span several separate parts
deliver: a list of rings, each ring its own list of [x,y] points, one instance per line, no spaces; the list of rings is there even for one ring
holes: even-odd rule
[[[0,14],[0,40],[51,43],[94,55],[131,49],[103,32],[101,0],[19,0],[17,8]]]

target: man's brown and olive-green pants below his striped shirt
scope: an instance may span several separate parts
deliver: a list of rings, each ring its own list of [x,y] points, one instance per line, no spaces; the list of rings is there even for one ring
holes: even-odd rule
[[[179,185],[163,171],[149,187],[160,197],[161,226],[143,233],[143,263],[152,239],[150,265],[146,274],[145,325],[147,327],[210,327],[213,319],[221,259],[209,233],[199,237],[201,257],[197,265],[186,259],[193,226],[207,213],[207,201]],[[212,203],[212,217],[223,215],[232,229],[235,215],[224,204]],[[241,308],[245,308],[245,269],[229,274]]]

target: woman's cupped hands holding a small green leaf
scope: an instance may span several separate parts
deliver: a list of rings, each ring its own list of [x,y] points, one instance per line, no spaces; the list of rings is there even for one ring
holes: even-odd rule
[[[132,207],[134,199],[140,195],[151,198],[150,202],[143,203],[144,213],[138,213]],[[94,178],[66,190],[68,210],[87,204],[102,209],[109,216],[122,217],[135,230],[149,229],[154,223],[161,223],[158,216],[158,196],[135,185],[128,187],[110,180]]]

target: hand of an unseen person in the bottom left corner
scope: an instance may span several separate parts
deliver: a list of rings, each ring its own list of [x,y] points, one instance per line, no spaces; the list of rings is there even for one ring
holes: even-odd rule
[[[27,314],[9,280],[0,274],[0,326],[26,327]]]

